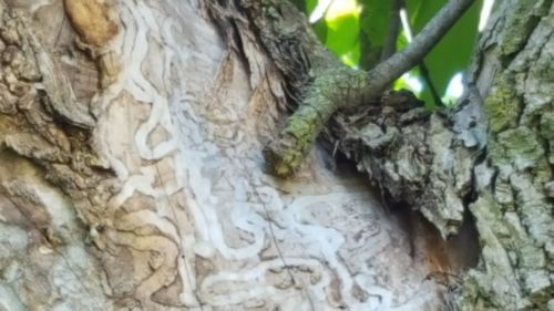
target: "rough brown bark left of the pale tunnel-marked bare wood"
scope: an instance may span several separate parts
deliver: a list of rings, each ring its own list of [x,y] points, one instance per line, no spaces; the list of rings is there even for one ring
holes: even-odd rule
[[[102,221],[113,175],[76,126],[79,108],[52,89],[58,72],[27,13],[0,2],[0,305],[101,309],[105,280],[81,221]]]

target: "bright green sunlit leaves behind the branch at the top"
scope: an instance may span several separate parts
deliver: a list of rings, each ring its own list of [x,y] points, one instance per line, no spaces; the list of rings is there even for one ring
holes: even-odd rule
[[[314,21],[312,27],[325,45],[336,53],[346,64],[361,70],[369,70],[381,60],[391,20],[391,9],[396,0],[297,0],[296,3],[307,15],[317,10],[322,15]],[[431,20],[444,4],[444,0],[403,0],[410,28],[413,35]],[[410,72],[422,84],[421,92],[414,90],[406,77],[394,83],[394,89],[410,89],[432,107],[433,96],[429,80],[439,95],[444,97],[451,79],[462,72],[471,59],[478,37],[478,24],[482,1],[470,8],[458,23],[442,38],[437,46],[424,59],[428,80],[421,76],[419,68]],[[314,19],[314,17],[312,17]],[[408,44],[407,31],[397,38],[396,49]],[[448,101],[448,99],[447,99]]]

